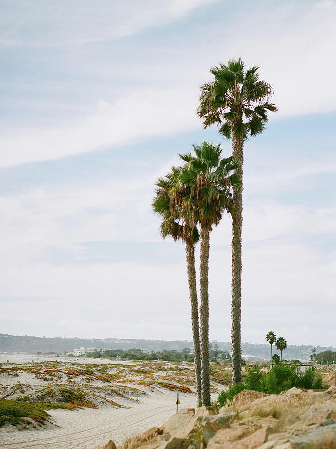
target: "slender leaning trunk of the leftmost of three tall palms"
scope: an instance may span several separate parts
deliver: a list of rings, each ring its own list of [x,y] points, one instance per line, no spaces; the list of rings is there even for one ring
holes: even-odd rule
[[[193,356],[195,364],[195,380],[197,386],[198,402],[202,399],[201,387],[201,353],[199,344],[199,327],[198,327],[198,301],[196,287],[196,271],[195,271],[195,246],[186,242],[186,267],[188,273],[189,296],[191,305],[191,327],[193,340]]]

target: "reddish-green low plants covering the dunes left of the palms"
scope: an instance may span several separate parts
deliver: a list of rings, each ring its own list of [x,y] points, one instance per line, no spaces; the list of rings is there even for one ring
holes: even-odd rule
[[[193,365],[140,361],[135,364],[40,362],[0,364],[0,427],[52,423],[47,411],[129,408],[151,390],[192,393]]]

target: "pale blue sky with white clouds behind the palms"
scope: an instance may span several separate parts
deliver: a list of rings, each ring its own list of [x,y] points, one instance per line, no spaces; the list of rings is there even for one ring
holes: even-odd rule
[[[184,246],[151,202],[192,143],[230,155],[196,108],[241,57],[279,109],[244,144],[242,341],[336,346],[335,23],[335,0],[0,0],[1,332],[191,340]],[[210,246],[230,341],[229,216]]]

